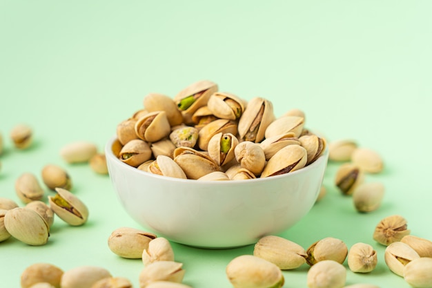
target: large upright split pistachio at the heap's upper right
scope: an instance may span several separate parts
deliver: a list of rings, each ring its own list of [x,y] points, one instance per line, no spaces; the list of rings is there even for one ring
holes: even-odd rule
[[[255,143],[261,142],[267,127],[273,120],[275,120],[273,104],[262,97],[252,98],[239,119],[240,138]]]

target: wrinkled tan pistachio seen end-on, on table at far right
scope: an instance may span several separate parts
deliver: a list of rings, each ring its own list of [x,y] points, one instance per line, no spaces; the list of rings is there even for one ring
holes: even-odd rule
[[[373,231],[373,240],[388,246],[393,242],[402,240],[402,238],[411,233],[407,228],[406,220],[401,215],[391,215],[382,219]]]

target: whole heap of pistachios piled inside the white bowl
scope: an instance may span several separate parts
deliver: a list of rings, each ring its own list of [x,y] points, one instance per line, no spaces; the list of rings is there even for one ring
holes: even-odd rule
[[[304,126],[302,111],[279,118],[262,97],[249,102],[197,81],[173,99],[144,97],[144,108],[117,125],[113,153],[137,169],[193,180],[270,177],[317,160],[326,140]]]

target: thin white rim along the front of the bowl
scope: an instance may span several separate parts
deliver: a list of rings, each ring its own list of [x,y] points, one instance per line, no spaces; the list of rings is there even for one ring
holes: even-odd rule
[[[239,184],[239,183],[248,183],[248,184],[253,184],[255,182],[268,182],[268,181],[273,181],[273,180],[277,180],[280,178],[285,178],[285,177],[295,177],[295,175],[300,174],[300,173],[306,173],[306,171],[314,169],[315,166],[319,166],[321,164],[321,162],[327,162],[328,161],[328,146],[326,146],[326,148],[324,149],[324,153],[322,153],[322,155],[320,155],[320,157],[317,158],[317,160],[315,160],[313,163],[309,164],[308,166],[304,166],[301,169],[298,169],[296,171],[293,172],[289,172],[289,173],[284,173],[282,175],[275,175],[275,176],[270,176],[270,177],[258,177],[258,178],[254,178],[254,179],[249,179],[249,180],[226,180],[226,181],[214,181],[214,180],[195,180],[195,179],[181,179],[181,178],[175,178],[175,177],[167,177],[167,176],[163,176],[163,175],[157,175],[157,174],[153,174],[153,173],[148,173],[146,171],[142,171],[137,169],[136,167],[130,166],[124,162],[121,162],[119,160],[119,158],[115,157],[114,153],[112,152],[112,144],[114,144],[115,140],[117,139],[117,136],[112,136],[110,138],[110,140],[108,140],[108,142],[106,142],[105,145],[105,154],[107,158],[110,158],[111,160],[113,160],[114,162],[117,162],[117,164],[123,166],[125,169],[128,169],[130,171],[132,171],[132,173],[138,173],[141,175],[144,175],[145,177],[153,177],[155,178],[155,180],[163,180],[163,181],[169,181],[169,182],[184,182],[184,183],[197,183],[197,185],[202,185],[202,184],[212,184],[212,185],[233,185],[233,184]],[[324,164],[326,165],[326,164]]]

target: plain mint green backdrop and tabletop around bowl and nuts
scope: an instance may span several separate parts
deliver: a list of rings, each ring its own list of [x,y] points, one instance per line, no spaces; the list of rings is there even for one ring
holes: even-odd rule
[[[244,99],[271,99],[276,115],[300,108],[306,126],[329,142],[354,139],[382,155],[384,172],[366,177],[386,186],[379,210],[357,213],[333,185],[339,164],[329,164],[326,197],[281,235],[305,249],[328,236],[348,247],[372,244],[377,268],[366,275],[348,270],[347,285],[409,287],[386,267],[385,247],[372,233],[382,218],[400,214],[413,235],[432,240],[431,11],[431,1],[1,0],[0,133],[6,147],[0,197],[19,202],[14,181],[21,173],[40,180],[44,165],[59,164],[90,219],[68,227],[57,218],[42,247],[1,242],[0,286],[19,287],[26,267],[50,262],[65,271],[105,267],[138,287],[141,260],[119,258],[107,239],[119,227],[140,227],[120,206],[108,176],[86,164],[66,164],[59,149],[87,140],[102,150],[147,93],[173,97],[210,79]],[[9,139],[18,123],[35,131],[27,151]],[[173,249],[184,263],[184,282],[212,288],[231,287],[226,265],[252,253],[253,245],[206,250],[173,243]],[[284,271],[284,287],[306,287],[307,269]]]

